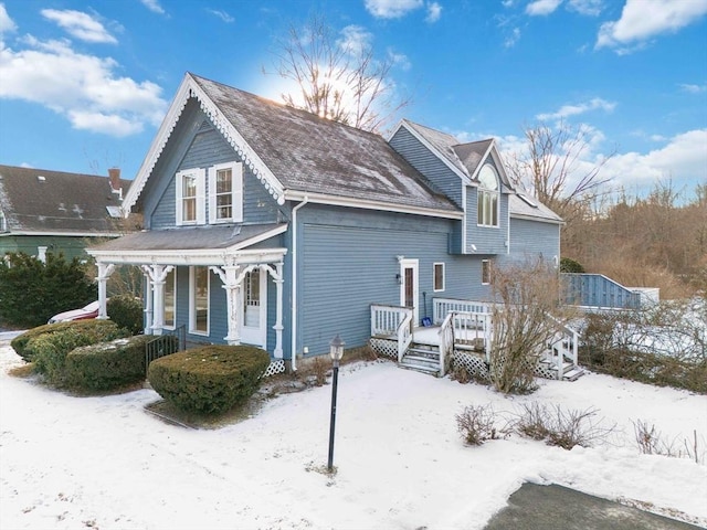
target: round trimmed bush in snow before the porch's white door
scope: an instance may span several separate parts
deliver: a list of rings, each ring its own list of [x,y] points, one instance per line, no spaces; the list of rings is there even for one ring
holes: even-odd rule
[[[245,403],[268,365],[270,354],[253,346],[204,346],[152,361],[147,380],[179,410],[218,414]]]

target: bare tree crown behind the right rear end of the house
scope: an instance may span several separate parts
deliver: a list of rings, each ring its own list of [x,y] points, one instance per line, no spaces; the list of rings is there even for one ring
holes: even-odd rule
[[[589,129],[563,121],[555,128],[542,123],[527,127],[525,137],[528,152],[510,155],[506,160],[513,184],[571,221],[609,182],[600,172],[616,151],[594,163],[582,163],[590,147]]]

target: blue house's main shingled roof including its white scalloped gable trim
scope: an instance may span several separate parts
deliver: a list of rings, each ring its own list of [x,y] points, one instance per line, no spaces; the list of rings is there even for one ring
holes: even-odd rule
[[[126,195],[126,209],[138,201],[190,97],[199,100],[226,141],[281,204],[306,195],[334,204],[420,210],[452,218],[462,214],[379,135],[190,73]]]

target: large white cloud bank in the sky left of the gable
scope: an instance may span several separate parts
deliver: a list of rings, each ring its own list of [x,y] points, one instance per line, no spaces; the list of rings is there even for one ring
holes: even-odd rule
[[[40,104],[77,129],[118,137],[161,121],[167,108],[161,88],[117,76],[113,59],[77,53],[65,40],[28,35],[22,44],[15,51],[0,42],[0,98]]]

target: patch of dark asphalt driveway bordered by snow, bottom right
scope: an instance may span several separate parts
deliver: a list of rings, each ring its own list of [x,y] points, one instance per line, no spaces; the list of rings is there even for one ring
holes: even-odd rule
[[[696,530],[686,522],[582,494],[526,483],[484,530]]]

